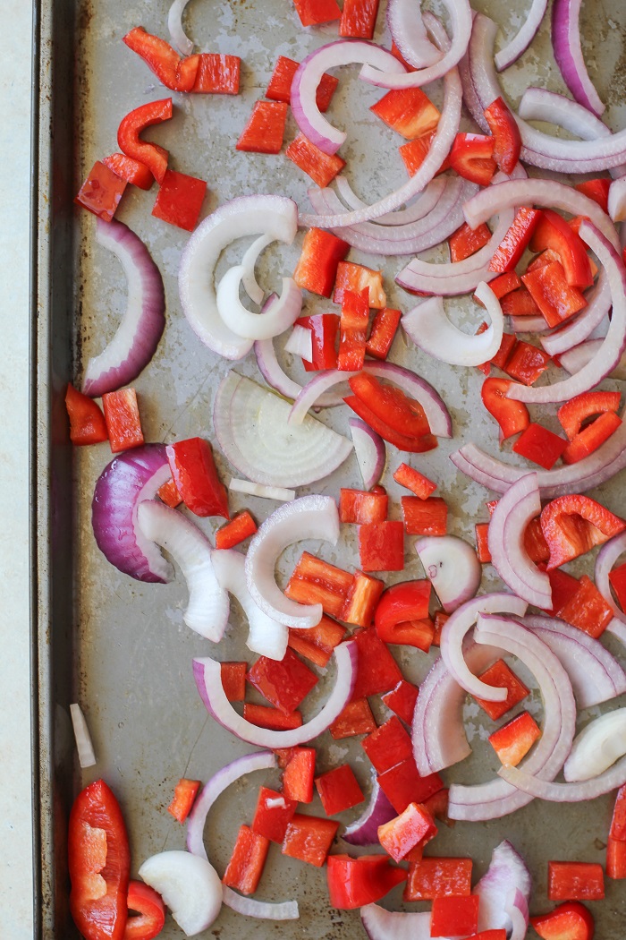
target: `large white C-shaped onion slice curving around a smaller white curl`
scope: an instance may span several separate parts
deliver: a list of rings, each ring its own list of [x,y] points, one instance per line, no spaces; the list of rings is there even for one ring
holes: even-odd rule
[[[178,290],[191,328],[210,350],[226,359],[241,359],[252,349],[252,340],[237,336],[220,316],[214,277],[223,249],[259,233],[291,244],[297,231],[298,207],[292,199],[239,196],[220,206],[193,232],[180,259]]]

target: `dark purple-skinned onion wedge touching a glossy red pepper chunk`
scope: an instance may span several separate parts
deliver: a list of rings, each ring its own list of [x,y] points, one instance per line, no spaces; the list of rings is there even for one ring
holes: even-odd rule
[[[172,565],[137,523],[139,504],[153,499],[171,476],[165,446],[146,444],[115,457],[96,482],[91,522],[99,550],[137,581],[167,584],[174,577]]]

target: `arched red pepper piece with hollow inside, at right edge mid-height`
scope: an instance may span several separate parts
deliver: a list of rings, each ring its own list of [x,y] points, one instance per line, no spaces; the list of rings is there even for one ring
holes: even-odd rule
[[[589,496],[557,496],[542,509],[543,538],[550,548],[548,571],[584,555],[626,529],[626,523]]]

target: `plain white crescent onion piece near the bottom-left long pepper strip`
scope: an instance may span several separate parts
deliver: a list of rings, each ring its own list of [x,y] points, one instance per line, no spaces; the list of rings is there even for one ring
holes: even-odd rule
[[[221,910],[221,881],[206,858],[177,850],[146,858],[139,870],[187,936],[208,930]]]

